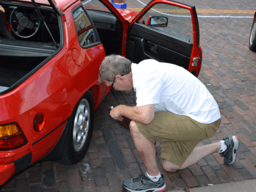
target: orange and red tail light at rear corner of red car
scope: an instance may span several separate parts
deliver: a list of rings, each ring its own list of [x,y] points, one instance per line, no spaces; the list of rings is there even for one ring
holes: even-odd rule
[[[0,125],[0,150],[13,150],[28,143],[16,123]]]

